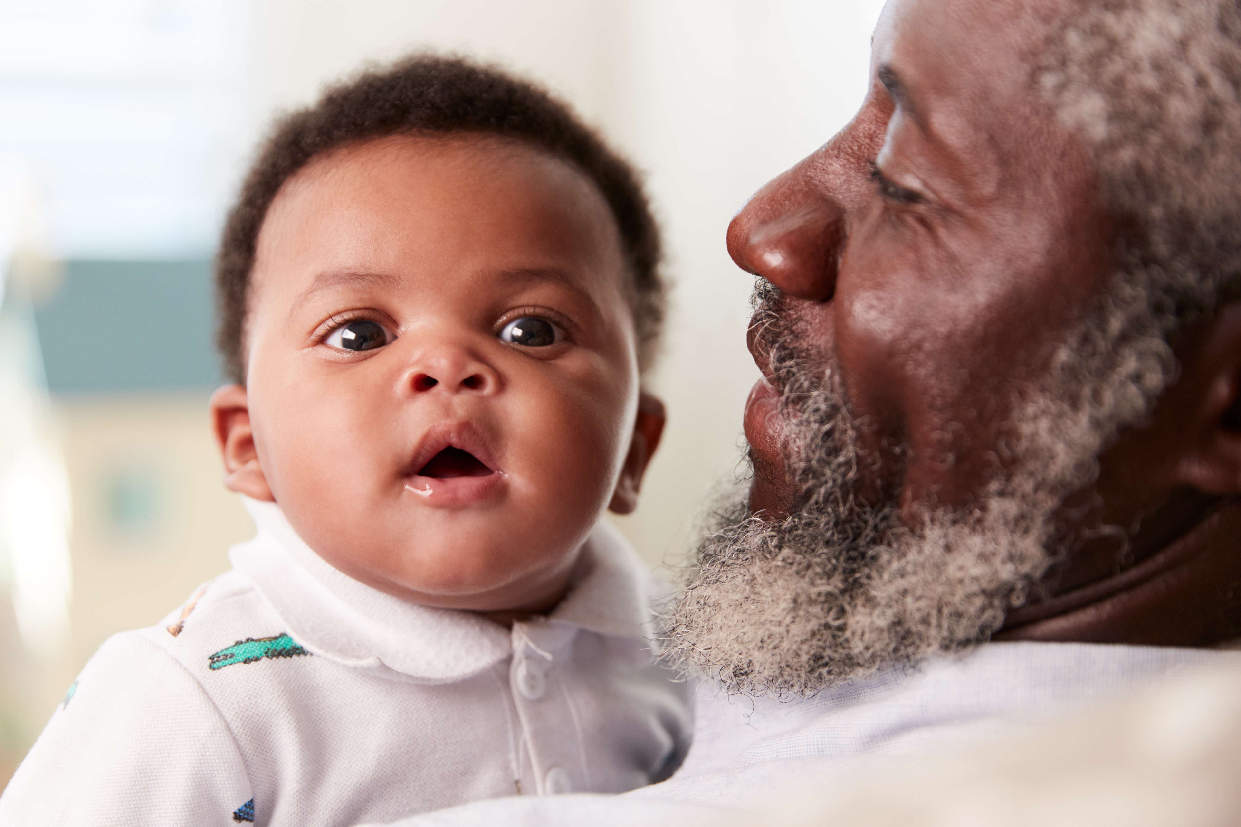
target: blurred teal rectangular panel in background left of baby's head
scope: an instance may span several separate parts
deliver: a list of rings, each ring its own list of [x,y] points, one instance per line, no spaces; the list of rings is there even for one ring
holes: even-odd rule
[[[221,383],[211,263],[68,262],[35,307],[53,394],[211,389]]]

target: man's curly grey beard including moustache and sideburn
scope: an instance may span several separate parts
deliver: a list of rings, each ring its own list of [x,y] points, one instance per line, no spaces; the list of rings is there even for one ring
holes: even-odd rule
[[[1095,479],[1100,451],[1174,373],[1147,295],[1116,288],[1060,348],[1045,386],[1016,400],[1016,461],[1003,479],[968,508],[925,510],[915,526],[895,497],[859,500],[864,458],[839,373],[793,352],[772,303],[759,303],[803,497],[778,522],[752,516],[745,496],[720,510],[670,606],[674,653],[730,691],[788,696],[984,641],[1055,562],[1064,497]]]

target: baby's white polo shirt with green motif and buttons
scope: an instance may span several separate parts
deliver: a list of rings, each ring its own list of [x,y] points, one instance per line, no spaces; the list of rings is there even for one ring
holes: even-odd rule
[[[511,630],[323,562],[279,508],[233,569],[108,640],[0,797],[0,825],[352,825],[663,780],[690,687],[654,663],[648,574],[591,534],[568,596]]]

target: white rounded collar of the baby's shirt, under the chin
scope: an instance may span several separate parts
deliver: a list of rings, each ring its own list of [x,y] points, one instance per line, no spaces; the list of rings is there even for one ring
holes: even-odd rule
[[[258,533],[233,546],[228,558],[254,582],[283,631],[308,651],[424,683],[464,679],[513,652],[516,632],[469,611],[422,606],[359,583],[315,554],[274,502],[242,501]],[[648,577],[620,533],[599,521],[568,595],[547,620],[650,639]]]

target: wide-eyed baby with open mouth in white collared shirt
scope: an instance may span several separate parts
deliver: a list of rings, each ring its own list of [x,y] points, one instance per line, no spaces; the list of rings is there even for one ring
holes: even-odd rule
[[[544,92],[416,57],[276,129],[223,233],[211,413],[258,526],[110,639],[0,823],[329,826],[619,792],[686,750],[624,513],[664,423],[630,167]]]

